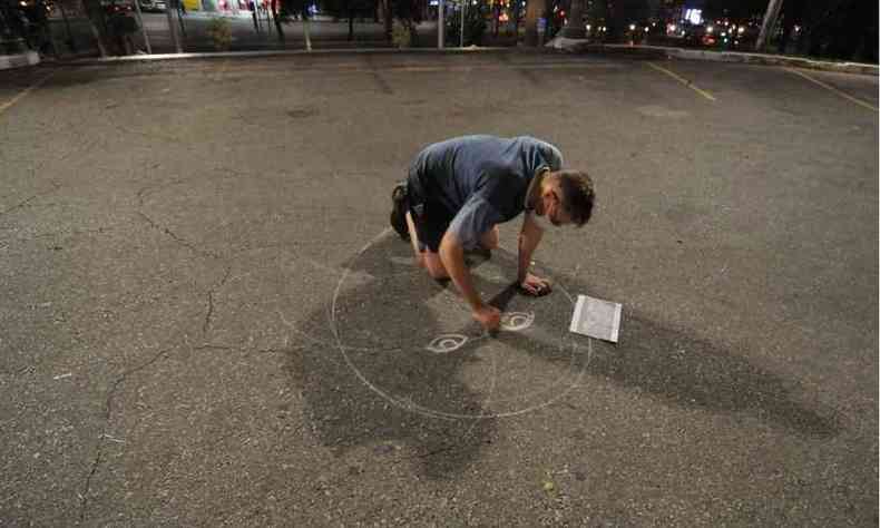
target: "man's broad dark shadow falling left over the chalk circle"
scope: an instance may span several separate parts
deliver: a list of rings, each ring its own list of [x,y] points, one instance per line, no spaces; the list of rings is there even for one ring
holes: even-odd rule
[[[447,478],[491,442],[496,426],[480,418],[483,397],[459,379],[473,359],[426,351],[426,336],[449,330],[438,312],[448,309],[457,321],[470,315],[450,299],[449,284],[411,261],[409,244],[392,235],[351,258],[326,304],[290,323],[296,345],[286,366],[302,391],[306,427],[323,446],[377,457],[407,446],[429,478]],[[481,333],[476,323],[463,331]]]

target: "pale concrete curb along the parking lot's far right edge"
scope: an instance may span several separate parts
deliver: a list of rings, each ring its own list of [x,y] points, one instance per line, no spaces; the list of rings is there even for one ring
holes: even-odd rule
[[[628,45],[588,45],[586,51],[628,53],[643,57],[710,60],[716,62],[741,62],[764,66],[788,66],[841,74],[880,75],[880,66],[862,62],[834,62],[830,60],[808,59],[804,57],[786,57],[742,51],[708,51],[702,49],[669,48],[665,46],[628,46]]]

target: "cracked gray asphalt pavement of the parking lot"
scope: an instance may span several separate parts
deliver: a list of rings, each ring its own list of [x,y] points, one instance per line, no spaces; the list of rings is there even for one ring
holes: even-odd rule
[[[0,72],[1,526],[877,526],[878,79],[597,55]],[[586,169],[487,336],[413,267],[423,146]],[[620,341],[568,332],[578,294]]]

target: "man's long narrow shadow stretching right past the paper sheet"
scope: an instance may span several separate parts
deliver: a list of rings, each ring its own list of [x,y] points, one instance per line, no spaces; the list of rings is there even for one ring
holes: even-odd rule
[[[509,253],[501,252],[498,256],[516,262],[516,255]],[[571,295],[602,296],[594,285],[573,277],[559,278]],[[510,299],[509,291],[502,292],[496,304],[503,306]],[[567,327],[569,321],[558,320],[554,324]],[[586,365],[587,377],[612,380],[667,404],[752,414],[799,434],[830,437],[843,428],[839,413],[805,403],[814,399],[796,380],[751,363],[747,351],[730,350],[721,343],[664,326],[626,304],[620,335],[618,344],[591,341],[594,353]],[[498,339],[529,353],[544,350],[534,346],[528,333],[501,333]],[[558,354],[545,359],[569,361]]]

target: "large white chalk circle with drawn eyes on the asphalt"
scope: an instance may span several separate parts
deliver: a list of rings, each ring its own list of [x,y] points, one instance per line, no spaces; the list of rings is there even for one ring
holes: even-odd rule
[[[593,343],[568,332],[575,299],[558,277],[551,277],[558,295],[514,296],[502,331],[490,336],[453,289],[432,286],[421,271],[389,273],[409,251],[391,236],[383,231],[346,262],[327,314],[331,341],[373,393],[427,418],[483,420],[546,408],[580,385]],[[512,261],[498,252],[473,271],[490,290],[485,295],[505,289],[495,277],[509,275]]]

